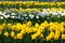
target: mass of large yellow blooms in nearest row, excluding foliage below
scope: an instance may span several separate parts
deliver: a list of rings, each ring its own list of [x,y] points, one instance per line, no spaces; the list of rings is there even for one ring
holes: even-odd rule
[[[46,32],[46,29],[49,31]],[[2,33],[3,32],[3,33]],[[0,34],[4,37],[11,37],[13,39],[23,39],[26,33],[30,34],[31,40],[44,39],[46,41],[50,40],[65,40],[65,23],[48,23],[43,22],[42,24],[35,24],[31,26],[31,22],[26,24],[1,24],[0,25]],[[44,33],[49,33],[44,35]]]

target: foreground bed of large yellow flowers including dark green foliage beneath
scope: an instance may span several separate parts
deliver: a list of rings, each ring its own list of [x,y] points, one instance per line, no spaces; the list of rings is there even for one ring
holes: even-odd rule
[[[1,24],[0,41],[3,43],[64,43],[65,42],[65,23],[42,24]]]

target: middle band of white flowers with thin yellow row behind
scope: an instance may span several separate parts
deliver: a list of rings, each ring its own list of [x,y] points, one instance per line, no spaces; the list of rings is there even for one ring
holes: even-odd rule
[[[24,9],[23,9],[24,10]],[[36,23],[48,22],[65,22],[64,9],[26,9],[24,11],[5,10],[0,12],[0,20],[2,23],[27,23],[28,20]],[[4,20],[4,22],[3,22]]]

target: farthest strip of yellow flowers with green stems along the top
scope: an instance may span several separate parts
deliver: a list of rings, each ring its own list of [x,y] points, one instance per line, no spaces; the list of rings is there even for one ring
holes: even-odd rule
[[[23,8],[23,9],[34,9],[34,8],[64,8],[65,2],[35,2],[35,1],[0,1],[0,8]]]

